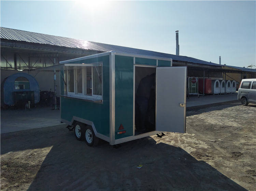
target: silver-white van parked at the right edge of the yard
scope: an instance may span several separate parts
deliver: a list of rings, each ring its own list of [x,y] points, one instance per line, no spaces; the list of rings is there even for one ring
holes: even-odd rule
[[[237,99],[243,105],[256,104],[256,79],[243,79],[238,89]]]

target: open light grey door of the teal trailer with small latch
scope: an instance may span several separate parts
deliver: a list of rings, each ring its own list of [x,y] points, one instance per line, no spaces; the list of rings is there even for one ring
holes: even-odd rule
[[[156,68],[156,131],[186,132],[187,67]]]

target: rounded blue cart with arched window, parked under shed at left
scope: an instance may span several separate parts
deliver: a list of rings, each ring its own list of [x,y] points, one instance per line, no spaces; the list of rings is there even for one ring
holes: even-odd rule
[[[38,82],[27,73],[15,73],[5,78],[1,90],[2,103],[8,106],[40,101]]]

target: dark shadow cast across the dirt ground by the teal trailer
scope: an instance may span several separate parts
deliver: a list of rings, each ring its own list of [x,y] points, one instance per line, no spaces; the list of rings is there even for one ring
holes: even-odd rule
[[[1,155],[52,146],[28,190],[245,190],[180,147],[151,137],[115,149],[105,141],[89,147],[63,126],[39,130],[1,135]],[[141,169],[136,168],[139,164]]]

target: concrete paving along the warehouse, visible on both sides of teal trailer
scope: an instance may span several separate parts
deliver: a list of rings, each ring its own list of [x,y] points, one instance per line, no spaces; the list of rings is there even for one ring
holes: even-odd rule
[[[197,98],[197,95],[192,95],[189,99],[187,98],[187,107],[233,100],[237,100],[237,93],[227,95],[205,95],[205,97],[200,95],[199,98]],[[60,111],[52,110],[51,107],[36,107],[27,111],[24,109],[1,109],[1,134],[61,124],[63,123],[60,123]]]

